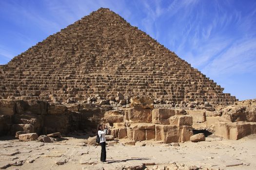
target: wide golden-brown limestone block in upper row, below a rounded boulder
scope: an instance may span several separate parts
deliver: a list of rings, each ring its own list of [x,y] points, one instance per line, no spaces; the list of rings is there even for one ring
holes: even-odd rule
[[[152,113],[151,109],[124,109],[124,122],[127,123],[151,123]]]

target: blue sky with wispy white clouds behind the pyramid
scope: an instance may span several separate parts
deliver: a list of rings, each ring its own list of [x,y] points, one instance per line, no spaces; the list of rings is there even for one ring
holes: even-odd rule
[[[0,64],[110,8],[239,100],[256,98],[256,0],[0,0]]]

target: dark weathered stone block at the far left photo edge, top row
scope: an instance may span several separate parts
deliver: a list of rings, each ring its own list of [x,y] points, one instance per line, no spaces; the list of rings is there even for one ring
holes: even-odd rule
[[[0,100],[0,115],[12,116],[15,114],[15,102],[11,100]]]

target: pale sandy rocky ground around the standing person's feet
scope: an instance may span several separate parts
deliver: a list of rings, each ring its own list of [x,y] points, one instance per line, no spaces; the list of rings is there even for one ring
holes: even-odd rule
[[[180,146],[137,142],[125,145],[125,139],[109,141],[107,164],[99,161],[100,146],[87,145],[86,136],[64,137],[59,142],[20,142],[8,136],[0,138],[0,169],[7,170],[255,170],[256,135],[239,140],[216,136],[206,141],[184,142]],[[109,144],[110,145],[110,144]]]

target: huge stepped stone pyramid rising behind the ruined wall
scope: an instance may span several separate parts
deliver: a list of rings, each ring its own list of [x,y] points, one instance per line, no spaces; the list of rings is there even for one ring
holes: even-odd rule
[[[223,90],[107,8],[0,66],[0,99],[82,101],[120,92],[174,102],[236,101]]]

